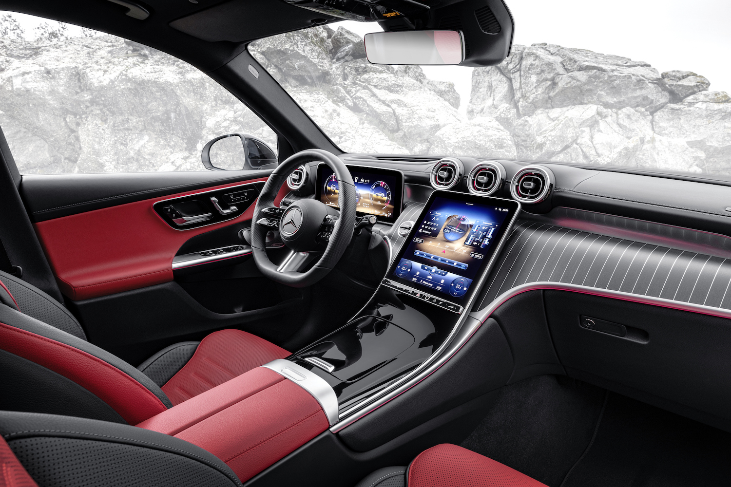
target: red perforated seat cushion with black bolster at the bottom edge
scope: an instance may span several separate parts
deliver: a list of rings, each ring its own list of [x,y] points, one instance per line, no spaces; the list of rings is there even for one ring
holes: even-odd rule
[[[499,461],[443,443],[420,453],[409,467],[379,469],[356,487],[546,487]]]

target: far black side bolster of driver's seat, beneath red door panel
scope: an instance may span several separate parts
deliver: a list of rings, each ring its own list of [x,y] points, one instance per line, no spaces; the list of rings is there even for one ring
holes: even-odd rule
[[[20,312],[86,340],[86,333],[84,333],[74,315],[56,299],[48,296],[36,286],[26,283],[26,281],[7,272],[0,271],[0,281],[15,298]],[[0,299],[0,301],[2,300]]]

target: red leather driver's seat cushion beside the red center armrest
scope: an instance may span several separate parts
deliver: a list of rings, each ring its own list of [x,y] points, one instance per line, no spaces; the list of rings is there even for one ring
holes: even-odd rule
[[[254,367],[290,355],[284,348],[246,331],[216,331],[200,342],[193,357],[162,386],[162,391],[173,405],[180,404]]]

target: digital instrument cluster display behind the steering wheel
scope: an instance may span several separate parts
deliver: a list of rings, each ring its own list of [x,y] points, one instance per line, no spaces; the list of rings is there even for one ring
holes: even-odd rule
[[[393,223],[401,214],[404,175],[391,169],[347,166],[355,185],[356,211]],[[317,199],[339,208],[338,178],[327,164],[317,166]]]

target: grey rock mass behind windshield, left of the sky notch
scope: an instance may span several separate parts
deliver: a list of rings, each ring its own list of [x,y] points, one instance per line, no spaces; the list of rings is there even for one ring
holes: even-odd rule
[[[342,62],[343,44],[333,39],[345,38],[344,31],[324,26],[281,34],[249,51],[350,152],[430,153],[436,132],[464,121],[454,84],[429,80],[419,66]]]

